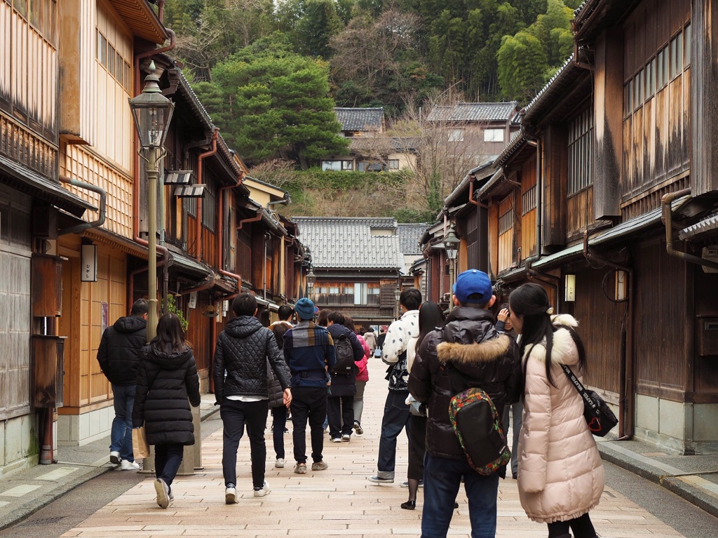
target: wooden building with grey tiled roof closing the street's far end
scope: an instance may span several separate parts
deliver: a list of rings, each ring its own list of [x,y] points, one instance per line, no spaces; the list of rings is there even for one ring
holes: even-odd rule
[[[317,280],[309,296],[315,304],[350,315],[358,326],[391,323],[397,287],[413,282],[401,277],[405,258],[418,251],[426,225],[401,225],[393,218],[293,216],[292,222],[312,253]]]

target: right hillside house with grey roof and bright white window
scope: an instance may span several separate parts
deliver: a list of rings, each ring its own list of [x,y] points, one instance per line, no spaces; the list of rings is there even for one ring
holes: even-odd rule
[[[475,155],[475,165],[490,160],[518,132],[518,103],[457,103],[435,106],[426,116],[426,124],[441,129],[449,144],[464,154]]]

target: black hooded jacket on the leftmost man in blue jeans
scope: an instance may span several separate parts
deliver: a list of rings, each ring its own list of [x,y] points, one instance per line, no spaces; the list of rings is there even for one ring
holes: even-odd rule
[[[127,316],[105,329],[97,361],[111,384],[131,386],[137,381],[137,355],[147,343],[146,327],[144,317]]]

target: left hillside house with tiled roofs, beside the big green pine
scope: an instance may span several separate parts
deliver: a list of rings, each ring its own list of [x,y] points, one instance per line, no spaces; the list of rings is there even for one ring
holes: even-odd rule
[[[416,164],[416,142],[386,136],[383,108],[335,108],[341,134],[350,138],[348,155],[322,159],[322,170],[382,172],[411,168]]]

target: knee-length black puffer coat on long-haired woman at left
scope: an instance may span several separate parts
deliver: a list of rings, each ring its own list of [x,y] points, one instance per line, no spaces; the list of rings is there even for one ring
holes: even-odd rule
[[[185,346],[182,351],[164,353],[155,343],[142,349],[132,425],[144,425],[150,445],[194,445],[190,404],[197,407],[200,401],[192,349]]]

